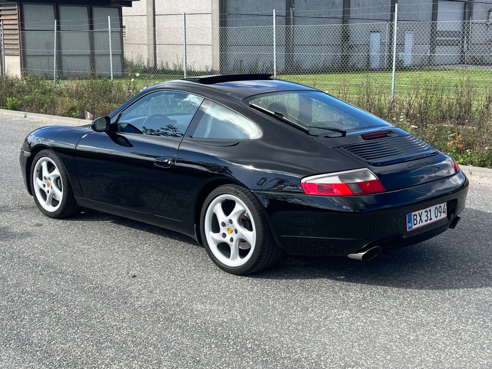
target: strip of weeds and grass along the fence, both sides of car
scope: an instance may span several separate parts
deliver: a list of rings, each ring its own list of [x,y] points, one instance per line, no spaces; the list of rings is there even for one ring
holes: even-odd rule
[[[114,84],[108,79],[87,79],[54,86],[32,76],[0,78],[0,108],[78,118],[85,118],[86,110],[96,117],[107,115],[149,83],[148,78],[138,79],[140,72],[148,72],[143,67],[131,65],[129,69],[136,71],[131,79],[118,79]],[[286,79],[322,88],[323,76],[329,75]],[[153,75],[147,77],[155,79]],[[451,84],[439,76],[415,78],[390,101],[387,86],[381,85],[377,76],[369,74],[354,82],[355,77],[339,78],[330,92],[402,127],[460,164],[492,168],[491,87],[469,77],[455,78]]]

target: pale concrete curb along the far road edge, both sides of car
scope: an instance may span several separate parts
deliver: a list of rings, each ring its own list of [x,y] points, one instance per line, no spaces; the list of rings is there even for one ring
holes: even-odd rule
[[[60,117],[56,115],[19,112],[19,111],[6,110],[6,109],[0,109],[0,116],[46,121],[48,123],[51,123],[52,125],[60,125],[60,126],[63,125],[84,126],[90,124],[91,122],[90,120],[87,119],[67,118],[67,117]],[[492,169],[489,168],[464,166],[464,165],[460,165],[460,168],[467,176],[492,178]]]

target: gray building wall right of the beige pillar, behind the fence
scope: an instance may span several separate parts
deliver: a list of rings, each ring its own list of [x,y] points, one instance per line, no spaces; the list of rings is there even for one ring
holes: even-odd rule
[[[254,6],[253,4],[254,3]],[[397,4],[398,3],[398,4]],[[492,65],[492,1],[461,0],[220,0],[221,66],[237,70],[240,56],[255,49],[245,39],[272,24],[276,10],[277,66],[281,72],[387,69],[392,65],[395,14],[399,67]],[[292,27],[291,27],[292,26]],[[245,27],[239,35],[234,27]],[[256,36],[255,36],[256,35]],[[268,69],[271,42],[265,34],[258,52]],[[240,69],[240,68],[239,68]]]

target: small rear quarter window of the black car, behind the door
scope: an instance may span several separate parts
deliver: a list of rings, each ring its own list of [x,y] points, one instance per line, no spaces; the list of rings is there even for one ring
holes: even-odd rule
[[[261,137],[260,128],[251,120],[226,108],[210,102],[204,110],[194,138],[210,139],[255,139]]]

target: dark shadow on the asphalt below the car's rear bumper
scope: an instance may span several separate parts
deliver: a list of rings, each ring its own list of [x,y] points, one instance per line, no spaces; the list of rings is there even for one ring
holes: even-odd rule
[[[455,230],[369,261],[347,257],[286,256],[274,268],[252,275],[265,279],[328,278],[404,289],[450,290],[492,286],[492,214],[463,211]]]

